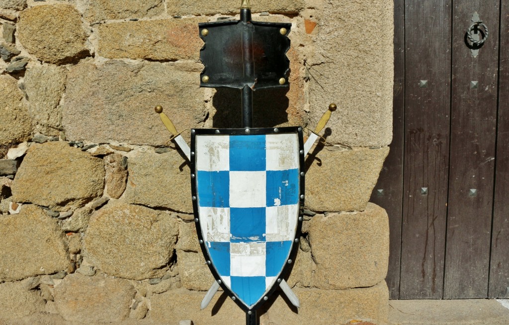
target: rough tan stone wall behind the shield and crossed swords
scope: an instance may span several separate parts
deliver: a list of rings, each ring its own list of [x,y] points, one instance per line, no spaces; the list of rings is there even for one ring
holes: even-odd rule
[[[302,307],[273,297],[260,322],[384,323],[388,219],[367,201],[391,141],[392,1],[251,2],[293,25],[291,86],[255,93],[254,126],[314,128],[338,105],[306,159]],[[197,33],[239,5],[0,0],[0,323],[244,322],[220,293],[200,311],[189,166],[153,109],[239,127],[239,92],[199,87]]]

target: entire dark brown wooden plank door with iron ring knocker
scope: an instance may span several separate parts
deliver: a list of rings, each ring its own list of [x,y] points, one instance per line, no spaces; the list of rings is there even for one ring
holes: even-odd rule
[[[508,7],[394,1],[393,142],[372,195],[392,299],[509,297]],[[489,28],[476,57],[474,12]]]

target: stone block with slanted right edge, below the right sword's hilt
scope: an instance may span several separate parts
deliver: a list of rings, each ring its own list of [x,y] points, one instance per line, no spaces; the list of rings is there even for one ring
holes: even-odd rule
[[[340,150],[319,145],[306,158],[305,204],[313,211],[362,211],[375,187],[388,147]]]

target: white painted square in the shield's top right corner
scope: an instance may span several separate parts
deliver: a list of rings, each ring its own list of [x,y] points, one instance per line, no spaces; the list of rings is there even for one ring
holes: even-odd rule
[[[299,140],[296,133],[268,134],[265,136],[265,145],[267,170],[299,168]]]

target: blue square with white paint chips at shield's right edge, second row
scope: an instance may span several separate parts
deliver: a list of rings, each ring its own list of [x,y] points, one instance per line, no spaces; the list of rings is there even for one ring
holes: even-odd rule
[[[267,170],[267,206],[299,202],[299,170]]]

